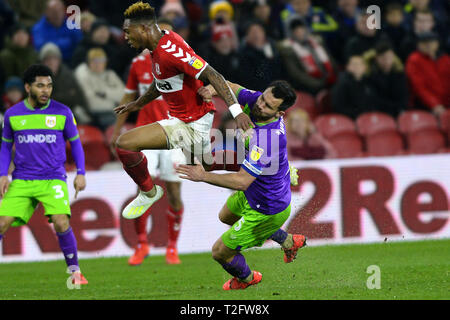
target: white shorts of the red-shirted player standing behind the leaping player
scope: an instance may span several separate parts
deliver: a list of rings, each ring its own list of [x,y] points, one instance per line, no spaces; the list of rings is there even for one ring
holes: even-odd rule
[[[175,171],[179,164],[186,164],[186,157],[181,149],[173,150],[142,150],[147,157],[148,171],[154,176],[159,176],[163,181],[181,182],[181,178]]]

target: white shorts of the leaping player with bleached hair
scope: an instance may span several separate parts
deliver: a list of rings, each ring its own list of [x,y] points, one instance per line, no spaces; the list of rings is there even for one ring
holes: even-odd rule
[[[185,123],[172,117],[158,121],[168,137],[169,149],[182,148],[199,156],[211,153],[210,131],[214,113],[209,112],[200,119]]]

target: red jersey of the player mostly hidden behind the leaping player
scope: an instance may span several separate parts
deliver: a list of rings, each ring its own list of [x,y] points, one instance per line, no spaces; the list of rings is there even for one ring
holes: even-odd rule
[[[128,75],[126,93],[135,93],[143,95],[153,82],[152,59],[150,54],[141,54],[133,59],[130,74]],[[169,106],[158,98],[149,104],[146,104],[138,114],[136,127],[169,118]]]

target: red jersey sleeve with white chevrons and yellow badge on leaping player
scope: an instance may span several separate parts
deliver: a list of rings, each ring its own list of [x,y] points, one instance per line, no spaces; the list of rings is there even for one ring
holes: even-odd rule
[[[169,40],[170,41],[170,40]],[[195,79],[198,79],[208,63],[203,60],[194,50],[184,41],[169,42],[162,46],[166,52],[165,57],[173,67]]]

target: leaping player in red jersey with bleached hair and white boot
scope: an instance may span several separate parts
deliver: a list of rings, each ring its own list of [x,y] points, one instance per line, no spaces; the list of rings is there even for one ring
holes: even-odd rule
[[[154,81],[139,99],[114,110],[119,114],[137,111],[162,95],[171,115],[170,119],[135,128],[117,139],[117,155],[140,189],[136,199],[125,207],[122,216],[135,219],[163,195],[163,189],[153,184],[147,169],[147,158],[141,150],[183,148],[202,160],[211,156],[209,132],[215,109],[211,102],[204,101],[197,93],[203,81],[208,81],[224,99],[239,129],[247,131],[253,124],[250,117],[242,112],[223,76],[198,56],[178,34],[159,28],[153,7],[137,2],[124,15],[123,30],[129,44],[136,49],[150,50]]]

